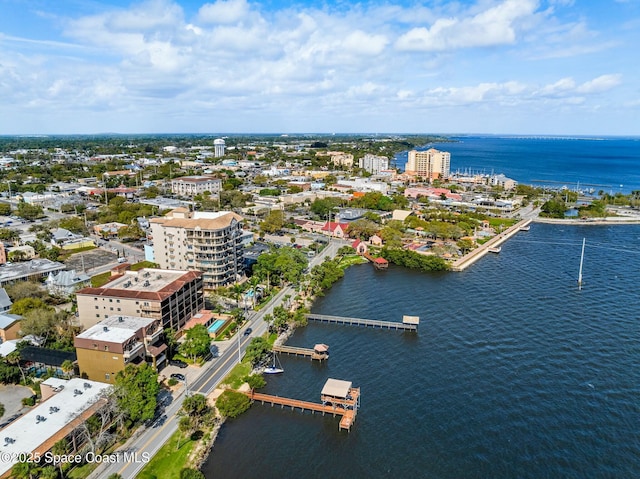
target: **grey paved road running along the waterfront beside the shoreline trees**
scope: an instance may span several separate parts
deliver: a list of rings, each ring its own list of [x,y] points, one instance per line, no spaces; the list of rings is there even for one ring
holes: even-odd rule
[[[347,241],[332,240],[321,253],[309,262],[309,267],[311,268],[320,264],[328,256],[335,256],[338,249],[345,244],[349,243]],[[285,296],[293,296],[293,294],[294,289],[291,286],[287,286],[279,291],[265,308],[257,312],[252,312],[249,320],[242,327],[241,332],[234,338],[235,341],[231,341],[228,344],[228,347],[221,352],[220,357],[207,363],[207,365],[202,368],[197,379],[186,385],[188,386],[189,393],[198,392],[205,395],[210,394],[220,381],[229,374],[229,371],[238,364],[238,350],[240,350],[240,356],[244,355],[244,351],[251,339],[261,336],[267,331],[267,323],[263,320],[264,316],[272,314],[273,309],[282,304]],[[253,332],[251,335],[245,335],[244,331],[249,327],[253,329]],[[188,375],[188,377],[189,376],[190,375]],[[177,412],[182,406],[184,397],[185,387],[183,386],[177,393],[174,393],[171,403],[166,406],[160,419],[156,421],[153,426],[141,429],[138,434],[130,439],[119,451],[138,453],[139,458],[144,457],[144,455],[152,457],[162,447],[165,441],[178,430],[179,416],[177,416]],[[91,474],[90,478],[99,479],[108,477],[113,473],[120,474],[124,479],[135,478],[145,464],[142,459],[139,462],[103,464]]]

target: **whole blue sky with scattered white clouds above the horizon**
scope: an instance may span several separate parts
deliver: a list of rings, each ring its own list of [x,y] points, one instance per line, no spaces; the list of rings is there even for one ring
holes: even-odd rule
[[[640,0],[0,0],[0,134],[640,135]]]

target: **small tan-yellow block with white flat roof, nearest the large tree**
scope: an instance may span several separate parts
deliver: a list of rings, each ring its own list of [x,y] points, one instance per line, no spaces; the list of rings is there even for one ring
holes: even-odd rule
[[[80,374],[113,384],[117,372],[129,363],[147,362],[157,370],[167,359],[161,336],[159,319],[108,316],[73,340]]]

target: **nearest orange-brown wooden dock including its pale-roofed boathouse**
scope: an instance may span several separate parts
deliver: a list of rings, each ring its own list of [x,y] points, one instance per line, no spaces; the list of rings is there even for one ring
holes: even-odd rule
[[[356,420],[358,414],[358,408],[360,407],[360,388],[354,388],[349,381],[341,381],[338,379],[328,379],[322,388],[320,398],[322,403],[314,403],[310,401],[301,401],[299,399],[291,399],[280,396],[273,396],[271,394],[263,394],[255,391],[245,391],[249,399],[252,402],[260,401],[262,404],[271,404],[271,407],[276,404],[282,409],[284,407],[290,407],[291,410],[300,409],[301,411],[311,411],[313,414],[321,412],[325,414],[332,414],[335,416],[342,416],[340,418],[339,430],[351,430],[351,426]]]

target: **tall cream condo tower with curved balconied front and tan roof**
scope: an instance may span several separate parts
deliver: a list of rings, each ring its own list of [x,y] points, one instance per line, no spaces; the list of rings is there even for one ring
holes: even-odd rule
[[[204,289],[233,283],[243,274],[240,215],[177,208],[150,223],[160,267],[201,271]]]

